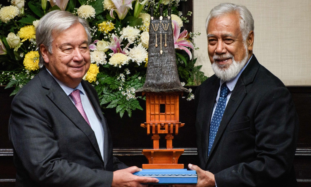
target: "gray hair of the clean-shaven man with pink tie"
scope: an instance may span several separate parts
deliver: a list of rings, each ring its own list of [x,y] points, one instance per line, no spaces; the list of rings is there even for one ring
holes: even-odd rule
[[[36,29],[36,43],[37,49],[39,52],[39,66],[42,67],[44,65],[44,60],[41,55],[40,45],[43,44],[46,48],[48,48],[49,53],[52,53],[52,32],[62,32],[68,29],[70,26],[75,23],[81,23],[84,27],[89,45],[91,44],[91,31],[88,22],[81,17],[77,17],[68,11],[54,10],[47,14],[45,14],[39,21],[37,29]]]

